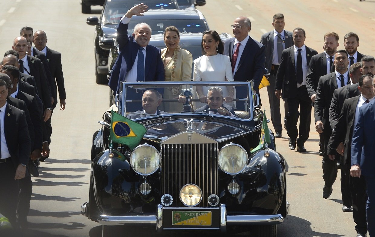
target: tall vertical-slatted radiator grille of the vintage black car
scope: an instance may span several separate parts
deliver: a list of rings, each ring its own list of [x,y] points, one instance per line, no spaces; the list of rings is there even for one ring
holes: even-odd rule
[[[184,206],[179,198],[181,188],[189,183],[202,189],[199,207],[208,207],[207,198],[217,194],[217,143],[162,144],[162,193],[170,194],[172,206]]]

